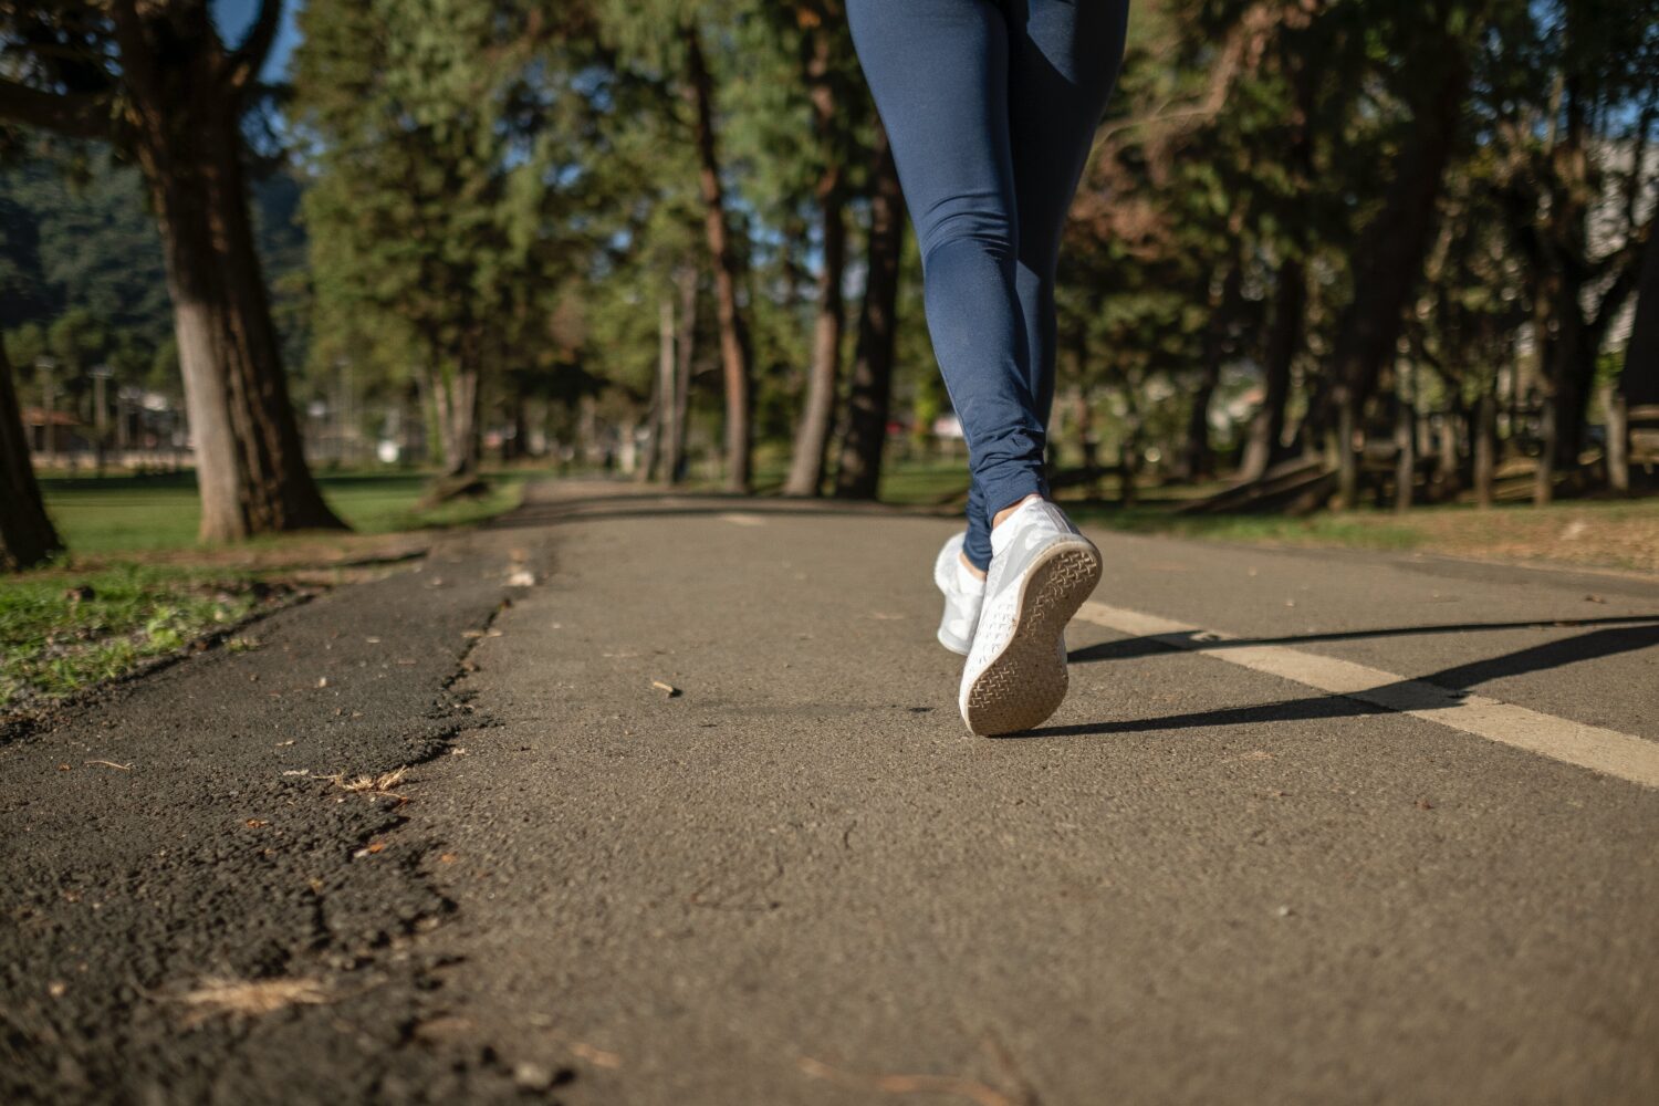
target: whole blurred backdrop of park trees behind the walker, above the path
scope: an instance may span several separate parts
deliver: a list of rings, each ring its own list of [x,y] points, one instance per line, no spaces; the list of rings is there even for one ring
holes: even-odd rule
[[[1136,0],[1060,494],[1651,489],[1656,118],[1652,0]],[[0,0],[0,128],[7,456],[48,507],[196,464],[207,539],[377,469],[966,489],[839,0]]]

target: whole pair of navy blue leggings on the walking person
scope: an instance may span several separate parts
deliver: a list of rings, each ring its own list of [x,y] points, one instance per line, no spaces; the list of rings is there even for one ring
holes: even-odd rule
[[[848,0],[922,252],[927,330],[967,436],[967,559],[1047,494],[1053,275],[1123,56],[1128,0]]]

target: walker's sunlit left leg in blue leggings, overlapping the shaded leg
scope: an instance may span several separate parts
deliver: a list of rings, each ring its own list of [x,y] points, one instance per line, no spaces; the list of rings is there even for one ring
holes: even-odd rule
[[[1015,289],[1009,20],[992,0],[848,0],[922,252],[927,328],[974,473],[966,555],[990,516],[1044,492],[1044,420]]]

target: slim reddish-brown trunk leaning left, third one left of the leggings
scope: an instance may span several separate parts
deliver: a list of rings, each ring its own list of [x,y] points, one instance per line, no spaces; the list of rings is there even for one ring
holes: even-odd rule
[[[748,333],[737,300],[742,260],[727,227],[725,192],[720,184],[720,158],[715,148],[713,80],[703,58],[702,36],[695,25],[680,30],[685,40],[687,95],[697,109],[698,186],[703,199],[703,224],[708,252],[715,265],[715,307],[720,318],[720,361],[727,391],[727,491],[748,494],[753,478],[752,370]]]

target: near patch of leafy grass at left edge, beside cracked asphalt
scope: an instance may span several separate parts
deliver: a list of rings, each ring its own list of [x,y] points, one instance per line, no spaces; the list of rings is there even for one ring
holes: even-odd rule
[[[61,698],[171,653],[267,602],[246,575],[119,565],[0,585],[0,710]]]

